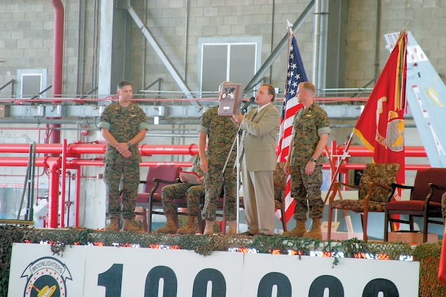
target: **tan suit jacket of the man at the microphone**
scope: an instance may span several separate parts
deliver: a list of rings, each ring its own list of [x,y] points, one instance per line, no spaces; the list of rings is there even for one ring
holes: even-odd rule
[[[277,163],[275,138],[280,126],[279,110],[273,104],[269,104],[252,120],[256,112],[257,108],[249,111],[241,127],[244,130],[242,139],[244,139],[243,158],[246,158],[246,170],[274,171]]]

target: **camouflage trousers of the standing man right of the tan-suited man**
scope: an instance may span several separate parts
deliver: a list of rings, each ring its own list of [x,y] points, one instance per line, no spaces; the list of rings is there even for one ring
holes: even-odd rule
[[[309,217],[312,219],[323,216],[321,186],[322,165],[316,165],[312,175],[305,174],[305,166],[294,166],[292,168],[291,196],[295,199],[295,220],[305,222],[308,208],[310,209]]]

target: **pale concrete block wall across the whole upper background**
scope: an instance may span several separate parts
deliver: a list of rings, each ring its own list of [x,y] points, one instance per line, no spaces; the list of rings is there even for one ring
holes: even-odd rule
[[[255,3],[254,3],[255,2]],[[189,4],[186,7],[186,4]],[[373,80],[389,56],[383,34],[410,30],[430,58],[435,69],[446,73],[446,39],[442,25],[446,3],[441,0],[345,1],[348,15],[345,87],[363,87]],[[97,86],[97,22],[99,0],[63,1],[65,5],[65,41],[63,93],[80,94]],[[294,22],[309,4],[308,0],[216,1],[171,0],[131,1],[140,18],[171,59],[192,91],[197,88],[197,39],[201,37],[261,36],[262,62],[286,34],[286,20]],[[52,82],[54,8],[50,1],[4,0],[0,19],[0,85],[16,79],[17,69],[47,68]],[[130,18],[130,15],[128,15]],[[310,16],[296,34],[307,75],[312,75],[314,18]],[[377,30],[379,30],[377,34]],[[146,45],[144,36],[133,24],[132,77],[135,88],[163,78],[164,90],[178,90],[172,77]],[[143,55],[146,58],[142,81]],[[376,64],[375,56],[378,56]],[[283,89],[286,53],[273,63],[268,82]],[[129,78],[128,78],[129,79]],[[0,91],[10,96],[11,89]],[[51,90],[49,91],[51,96]]]

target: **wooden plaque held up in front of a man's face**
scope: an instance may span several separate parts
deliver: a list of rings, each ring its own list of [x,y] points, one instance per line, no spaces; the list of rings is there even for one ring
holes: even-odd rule
[[[218,115],[230,118],[238,115],[242,105],[242,92],[242,84],[223,84]]]

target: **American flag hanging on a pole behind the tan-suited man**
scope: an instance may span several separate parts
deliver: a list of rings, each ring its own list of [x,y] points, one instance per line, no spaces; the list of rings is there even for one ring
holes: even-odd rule
[[[290,141],[292,138],[292,122],[295,114],[302,108],[302,104],[297,101],[297,85],[300,82],[306,82],[306,73],[302,58],[299,53],[296,38],[291,34],[290,50],[288,51],[288,68],[287,79],[285,82],[285,95],[283,98],[282,117],[280,119],[279,146],[277,161],[285,162],[290,151]],[[290,194],[290,176],[287,177],[287,185],[285,187],[285,222],[290,220],[295,212],[295,203]],[[280,218],[280,211],[275,215]],[[283,219],[282,219],[283,220]]]

